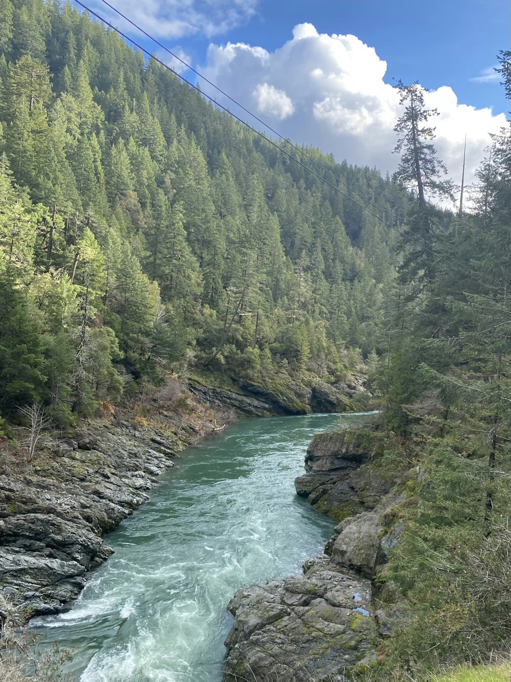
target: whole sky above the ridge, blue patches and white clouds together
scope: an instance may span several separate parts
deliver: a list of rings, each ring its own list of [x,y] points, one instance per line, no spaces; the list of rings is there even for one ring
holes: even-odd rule
[[[465,134],[470,182],[506,125],[510,103],[493,66],[509,47],[509,0],[110,1],[283,136],[339,161],[397,168],[393,78],[429,91],[435,145],[455,182]],[[102,0],[88,4],[175,66]]]

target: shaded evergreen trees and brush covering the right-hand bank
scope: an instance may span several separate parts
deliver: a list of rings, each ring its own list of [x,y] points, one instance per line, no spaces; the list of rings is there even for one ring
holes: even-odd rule
[[[508,98],[510,64],[500,53]],[[435,253],[418,266],[403,243],[390,366],[373,376],[388,402],[384,461],[409,471],[387,519],[400,542],[380,576],[403,619],[382,653],[412,671],[484,660],[508,651],[510,637],[510,125],[493,136],[478,181],[474,211],[448,240],[429,207],[414,207]],[[452,679],[499,679],[470,674]]]

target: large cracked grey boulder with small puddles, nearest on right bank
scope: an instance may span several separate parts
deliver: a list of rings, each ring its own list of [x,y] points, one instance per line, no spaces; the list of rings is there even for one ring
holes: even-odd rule
[[[377,625],[369,580],[346,576],[325,555],[293,576],[240,590],[224,680],[344,680],[373,658]]]

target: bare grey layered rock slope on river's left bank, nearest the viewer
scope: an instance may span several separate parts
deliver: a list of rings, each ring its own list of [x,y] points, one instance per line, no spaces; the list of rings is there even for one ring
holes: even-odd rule
[[[30,614],[66,608],[112,553],[102,535],[147,499],[184,445],[170,433],[98,426],[50,444],[31,471],[1,475],[4,593]]]

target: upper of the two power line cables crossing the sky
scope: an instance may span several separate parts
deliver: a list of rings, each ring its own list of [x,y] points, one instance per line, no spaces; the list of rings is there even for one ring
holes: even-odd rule
[[[232,102],[233,104],[236,104],[236,106],[238,106],[238,107],[241,108],[243,111],[245,111],[245,113],[247,113],[249,116],[251,116],[253,119],[255,119],[255,121],[258,121],[258,123],[261,123],[261,125],[262,125],[264,128],[267,128],[268,130],[270,130],[271,132],[273,132],[273,134],[275,134],[278,138],[280,138],[281,140],[283,140],[283,142],[284,142],[285,144],[290,145],[290,147],[292,147],[292,149],[295,149],[296,151],[298,151],[298,153],[300,153],[301,155],[303,155],[307,160],[309,160],[310,162],[312,162],[313,164],[315,164],[316,166],[318,166],[318,168],[321,168],[321,169],[324,171],[324,173],[328,173],[328,175],[330,175],[330,177],[332,177],[333,179],[335,179],[335,181],[337,181],[338,183],[340,183],[341,185],[343,185],[347,190],[349,190],[349,191],[351,192],[351,194],[355,194],[356,196],[360,197],[360,198],[362,199],[362,201],[364,201],[366,204],[368,204],[368,205],[374,207],[377,211],[381,211],[382,214],[383,214],[384,216],[388,216],[388,213],[385,211],[385,209],[382,209],[381,207],[377,206],[373,201],[371,201],[370,199],[368,199],[366,196],[363,196],[362,194],[360,194],[360,192],[357,192],[356,190],[354,190],[354,188],[350,187],[347,183],[345,183],[345,181],[343,181],[341,178],[337,177],[337,175],[335,175],[335,173],[332,173],[331,170],[328,170],[328,168],[326,168],[325,166],[323,166],[322,164],[320,164],[320,162],[316,161],[316,160],[313,159],[309,154],[305,153],[305,151],[303,151],[303,149],[300,149],[300,147],[298,147],[298,145],[294,145],[287,137],[281,135],[281,134],[280,134],[277,130],[275,130],[274,128],[271,128],[271,126],[268,125],[268,123],[266,123],[265,121],[262,121],[262,119],[260,119],[258,116],[256,116],[252,111],[250,111],[250,110],[247,109],[245,106],[243,106],[243,104],[241,104],[241,102],[238,102],[238,100],[235,100],[233,97],[231,97],[231,95],[229,95],[228,93],[226,93],[226,91],[222,90],[220,87],[218,87],[217,85],[215,85],[215,83],[212,83],[211,80],[208,80],[208,78],[206,78],[206,76],[203,76],[200,72],[198,72],[196,69],[194,69],[193,66],[191,66],[191,65],[190,65],[189,63],[187,63],[184,59],[182,59],[182,57],[179,57],[179,55],[176,55],[175,53],[173,53],[172,50],[170,50],[167,46],[165,46],[164,44],[162,44],[161,42],[159,42],[159,40],[157,40],[156,38],[154,38],[153,35],[151,35],[150,33],[147,33],[147,31],[144,31],[144,29],[142,29],[142,27],[140,27],[138,24],[136,24],[134,21],[132,21],[129,17],[127,17],[125,14],[123,14],[123,12],[121,12],[120,10],[118,10],[117,8],[115,8],[113,5],[111,5],[111,4],[108,2],[108,0],[102,0],[102,3],[103,3],[104,5],[106,5],[108,8],[110,8],[110,10],[112,10],[113,12],[116,12],[116,14],[118,14],[119,16],[121,16],[121,18],[123,18],[123,19],[124,19],[125,21],[127,21],[131,26],[133,26],[135,29],[137,29],[137,31],[140,31],[140,33],[142,33],[143,35],[145,35],[146,38],[149,38],[149,40],[152,40],[156,45],[158,45],[159,47],[161,47],[162,50],[165,50],[166,53],[168,53],[169,55],[171,55],[171,57],[174,57],[174,59],[176,59],[177,61],[180,61],[183,65],[185,65],[185,67],[186,67],[187,69],[189,69],[191,72],[193,72],[194,74],[196,74],[196,76],[198,76],[199,78],[202,78],[202,80],[204,80],[206,83],[208,83],[208,85],[211,85],[211,87],[214,87],[215,90],[217,90],[219,93],[221,93],[221,95],[223,95],[224,97],[226,97],[226,98],[227,98],[228,100],[230,100],[230,102]],[[172,70],[172,71],[173,71],[173,70]],[[173,72],[174,72],[174,71],[173,71]],[[181,77],[181,76],[180,76],[180,77]],[[183,78],[183,80],[185,80],[185,78]],[[186,82],[188,82],[188,81],[186,81]],[[206,96],[207,96],[207,95],[206,95]],[[214,101],[214,100],[213,100],[213,101]],[[217,102],[215,102],[215,103],[217,104]],[[238,120],[241,120],[241,119],[238,119]],[[243,122],[243,121],[242,121],[242,122]],[[306,167],[307,167],[307,166],[306,166]],[[308,170],[311,170],[311,169],[309,168]],[[346,196],[346,195],[344,195],[344,196]],[[349,196],[348,198],[352,198],[352,197]],[[359,205],[360,205],[360,204],[359,204]],[[373,213],[372,215],[374,215],[374,213]],[[389,216],[388,216],[388,217],[389,217]],[[418,233],[416,233],[416,232],[414,232],[413,230],[410,230],[410,229],[409,229],[409,233],[412,233],[412,235],[414,235],[415,237],[418,237],[418,239],[424,241],[424,243],[427,244],[427,246],[431,247],[431,243],[429,243],[429,241],[427,241],[427,239],[424,239],[424,237],[421,237],[420,235],[418,235]],[[454,256],[451,256],[450,254],[446,253],[444,250],[442,250],[442,249],[440,249],[440,248],[437,248],[436,251],[437,251],[437,254],[442,254],[443,256],[446,256],[446,258],[450,258],[450,261],[452,261],[452,263],[457,263],[458,265],[461,265],[461,267],[465,268],[465,270],[467,270],[468,272],[471,272],[471,273],[476,274],[476,272],[475,272],[474,270],[472,270],[471,267],[469,267],[469,266],[466,265],[465,263],[462,263],[461,261],[459,261],[459,260],[458,260],[457,258],[455,258]]]

